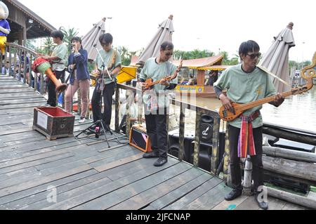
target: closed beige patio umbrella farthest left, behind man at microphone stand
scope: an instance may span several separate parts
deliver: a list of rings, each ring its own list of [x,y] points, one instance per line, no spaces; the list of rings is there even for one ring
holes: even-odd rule
[[[93,24],[93,28],[82,38],[82,46],[88,51],[88,60],[96,60],[98,52],[95,45],[98,49],[101,48],[99,37],[105,34],[105,20],[106,18],[103,18],[97,24]]]

